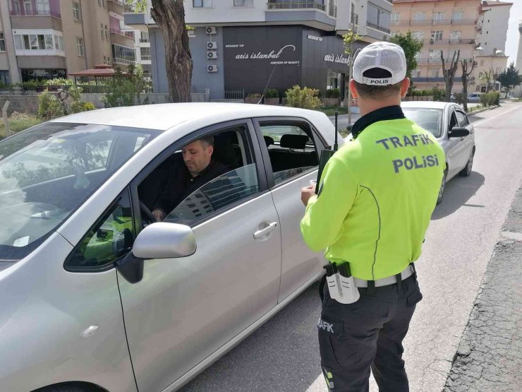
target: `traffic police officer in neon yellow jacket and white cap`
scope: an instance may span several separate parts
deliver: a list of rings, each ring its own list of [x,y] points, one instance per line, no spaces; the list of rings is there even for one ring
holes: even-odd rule
[[[324,167],[317,195],[301,192],[305,242],[331,263],[347,261],[360,296],[337,302],[322,280],[317,328],[330,391],[368,391],[370,367],[380,391],[408,391],[402,340],[422,299],[413,262],[445,167],[435,137],[404,117],[409,85],[401,47],[365,47],[350,81],[363,116]]]

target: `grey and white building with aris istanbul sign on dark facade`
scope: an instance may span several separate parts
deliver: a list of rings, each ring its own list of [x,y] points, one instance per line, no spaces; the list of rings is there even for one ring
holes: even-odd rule
[[[150,1],[149,1],[150,8]],[[344,94],[348,56],[342,35],[357,25],[368,42],[390,33],[389,0],[188,0],[186,23],[193,57],[193,93],[214,100],[241,98],[293,85],[339,88]],[[168,93],[162,34],[150,15],[125,15],[126,25],[148,32],[154,91]]]

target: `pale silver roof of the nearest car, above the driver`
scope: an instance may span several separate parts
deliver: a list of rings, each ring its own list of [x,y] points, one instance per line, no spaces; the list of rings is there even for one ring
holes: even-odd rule
[[[52,122],[128,126],[166,131],[187,121],[212,125],[219,122],[249,117],[305,117],[322,122],[327,117],[322,112],[278,107],[272,105],[250,105],[226,102],[167,103],[114,107],[90,112],[71,114]]]

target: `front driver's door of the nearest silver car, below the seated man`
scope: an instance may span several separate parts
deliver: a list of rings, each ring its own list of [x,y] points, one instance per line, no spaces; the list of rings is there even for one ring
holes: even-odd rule
[[[134,208],[140,210],[140,182],[167,155],[200,136],[217,133],[236,135],[231,155],[238,164],[188,196],[165,219],[192,227],[195,253],[146,260],[138,283],[119,275],[140,391],[176,388],[176,380],[209,363],[204,361],[277,305],[279,218],[250,120],[196,131],[171,146],[133,182]],[[216,149],[214,145],[214,153]]]

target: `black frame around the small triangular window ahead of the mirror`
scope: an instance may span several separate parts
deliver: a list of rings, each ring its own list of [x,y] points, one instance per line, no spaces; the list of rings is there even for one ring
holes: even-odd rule
[[[89,233],[94,227],[99,225],[100,220],[102,220],[102,218],[104,218],[104,216],[107,215],[112,208],[114,208],[114,205],[125,194],[128,197],[128,200],[130,203],[130,215],[131,215],[130,221],[133,222],[133,236],[134,236],[133,245],[134,245],[136,237],[138,237],[138,226],[136,225],[136,213],[133,208],[134,207],[133,195],[132,195],[132,192],[130,191],[130,186],[126,186],[125,188],[123,188],[123,191],[121,191],[118,194],[118,196],[116,196],[116,198],[113,201],[111,201],[111,203],[109,203],[109,206],[107,208],[105,208],[103,213],[101,215],[99,215],[98,218],[95,219],[95,222],[89,227],[87,232],[85,232],[85,234],[83,234],[83,237],[80,239],[80,241],[78,241],[78,244],[75,244],[75,247],[73,248],[73,250],[67,255],[66,259],[63,261],[63,269],[65,271],[71,272],[71,273],[99,273],[99,272],[111,271],[112,268],[116,267],[116,261],[123,259],[123,257],[125,257],[128,254],[128,252],[132,251],[132,246],[131,246],[126,254],[122,254],[121,256],[117,257],[116,259],[114,259],[112,261],[109,261],[108,263],[103,264],[102,266],[77,267],[77,266],[68,266],[67,265],[67,261],[69,259],[71,259],[71,256],[73,256],[75,251],[81,246],[83,239],[85,238],[87,233]]]

